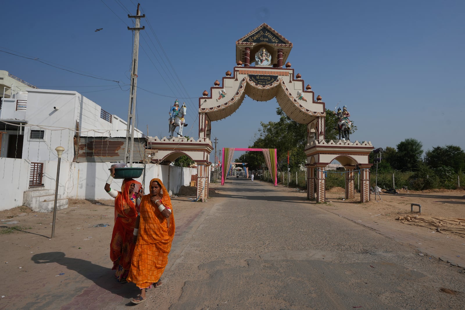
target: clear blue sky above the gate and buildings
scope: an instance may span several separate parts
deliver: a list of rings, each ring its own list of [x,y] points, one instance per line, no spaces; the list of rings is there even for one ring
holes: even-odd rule
[[[39,88],[78,91],[126,119],[127,14],[136,7],[133,0],[8,1],[0,50],[48,65],[0,52],[0,70]],[[464,1],[448,0],[141,2],[137,125],[167,135],[168,111],[179,99],[188,107],[184,133],[197,136],[198,98],[233,71],[236,40],[267,23],[292,42],[287,60],[326,107],[347,106],[358,127],[351,140],[385,148],[414,138],[424,151],[465,149],[464,12]],[[246,98],[213,122],[212,139],[218,149],[247,147],[260,122],[279,119],[277,107],[274,99]]]

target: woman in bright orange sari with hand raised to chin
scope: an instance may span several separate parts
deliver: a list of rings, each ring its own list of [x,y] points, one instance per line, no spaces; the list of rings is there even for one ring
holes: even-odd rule
[[[140,217],[134,229],[137,240],[127,281],[135,283],[140,295],[132,303],[146,300],[146,288],[157,283],[168,264],[174,237],[174,216],[171,198],[160,179],[150,181],[150,193],[142,196]]]

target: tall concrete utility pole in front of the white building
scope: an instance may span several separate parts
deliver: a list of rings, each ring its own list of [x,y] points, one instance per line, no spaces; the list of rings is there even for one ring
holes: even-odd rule
[[[124,149],[124,162],[130,163],[133,166],[133,150],[134,150],[134,127],[136,114],[136,91],[137,91],[137,66],[139,60],[139,30],[144,30],[145,26],[140,28],[140,19],[145,17],[145,14],[140,16],[140,3],[137,4],[137,13],[135,16],[127,14],[127,17],[136,19],[134,28],[127,27],[127,30],[134,31],[133,45],[133,64],[131,66],[131,91],[129,92],[129,109],[127,112],[127,128],[126,128],[126,144]],[[131,147],[129,148],[129,143]]]

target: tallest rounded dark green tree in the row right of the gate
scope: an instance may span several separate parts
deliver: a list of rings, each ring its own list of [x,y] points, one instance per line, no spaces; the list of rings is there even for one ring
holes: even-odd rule
[[[401,171],[417,171],[423,162],[423,145],[413,138],[405,139],[397,145],[395,169]]]

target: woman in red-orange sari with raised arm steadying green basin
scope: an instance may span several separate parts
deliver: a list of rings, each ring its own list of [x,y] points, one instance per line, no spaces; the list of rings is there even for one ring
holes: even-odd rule
[[[140,188],[140,182],[132,178],[125,178],[121,191],[112,190],[110,184],[114,177],[114,168],[105,184],[105,190],[111,197],[115,198],[115,224],[113,226],[112,241],[110,243],[110,259],[113,261],[112,270],[115,271],[116,280],[127,283],[126,277],[131,267],[134,244],[133,232],[139,212],[140,192],[134,192],[136,187]]]

